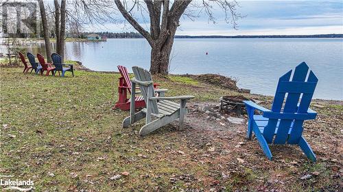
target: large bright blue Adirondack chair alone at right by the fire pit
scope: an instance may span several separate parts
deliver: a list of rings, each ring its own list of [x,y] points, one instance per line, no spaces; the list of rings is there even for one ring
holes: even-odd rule
[[[292,70],[280,77],[272,110],[265,109],[250,100],[244,101],[249,118],[247,137],[251,139],[252,131],[254,131],[264,154],[270,160],[272,160],[272,152],[270,152],[268,143],[287,143],[300,146],[307,158],[316,161],[316,155],[302,135],[304,120],[315,119],[317,115],[316,111],[309,109],[309,104],[318,79],[310,71],[309,77],[305,81],[308,70],[309,67],[303,62],[296,66],[292,81],[290,81]],[[303,95],[300,98],[301,94]],[[263,114],[255,115],[255,109]]]

